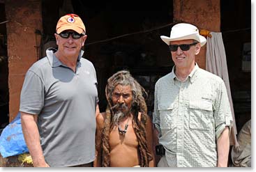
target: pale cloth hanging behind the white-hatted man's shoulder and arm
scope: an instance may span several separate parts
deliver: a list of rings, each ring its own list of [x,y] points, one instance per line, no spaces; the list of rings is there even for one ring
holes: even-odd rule
[[[239,146],[236,140],[236,120],[234,118],[234,107],[229,86],[229,76],[227,71],[227,60],[225,48],[223,44],[223,37],[221,33],[211,32],[211,38],[207,36],[206,43],[206,70],[221,77],[227,88],[227,95],[229,97],[229,104],[233,117],[233,126],[230,131],[230,145]]]

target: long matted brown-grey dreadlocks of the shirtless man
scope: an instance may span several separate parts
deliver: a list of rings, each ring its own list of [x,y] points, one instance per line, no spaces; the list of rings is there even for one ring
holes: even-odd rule
[[[114,127],[113,121],[113,102],[112,102],[112,93],[114,88],[117,85],[121,86],[130,86],[133,93],[133,102],[131,106],[131,112],[134,115],[132,120],[133,129],[135,130],[135,134],[138,141],[138,148],[139,151],[139,162],[140,166],[149,166],[149,162],[153,159],[151,153],[149,152],[149,148],[146,145],[146,120],[147,116],[147,108],[146,102],[144,100],[144,95],[146,91],[140,84],[130,75],[130,72],[126,70],[121,70],[116,72],[110,79],[107,80],[107,86],[105,88],[105,94],[107,97],[107,109],[106,109],[106,116],[105,116],[105,126],[103,127],[102,132],[102,148],[103,148],[103,166],[110,166],[110,132]],[[138,120],[138,114],[141,113],[141,118]]]

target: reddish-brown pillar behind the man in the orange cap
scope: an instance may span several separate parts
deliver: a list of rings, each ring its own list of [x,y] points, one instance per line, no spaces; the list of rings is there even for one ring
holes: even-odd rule
[[[42,31],[41,1],[6,0],[6,24],[8,42],[9,121],[19,111],[20,91],[24,75],[39,58]]]

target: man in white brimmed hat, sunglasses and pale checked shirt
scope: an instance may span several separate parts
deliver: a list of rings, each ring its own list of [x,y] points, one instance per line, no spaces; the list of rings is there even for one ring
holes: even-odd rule
[[[153,123],[164,150],[158,166],[227,166],[233,121],[225,84],[195,63],[206,38],[186,23],[160,38],[174,67],[155,87]]]

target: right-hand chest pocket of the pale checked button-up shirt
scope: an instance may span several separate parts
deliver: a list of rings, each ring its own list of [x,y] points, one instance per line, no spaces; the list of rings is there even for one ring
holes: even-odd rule
[[[189,127],[194,130],[209,130],[213,116],[212,102],[208,100],[198,100],[189,102]]]

